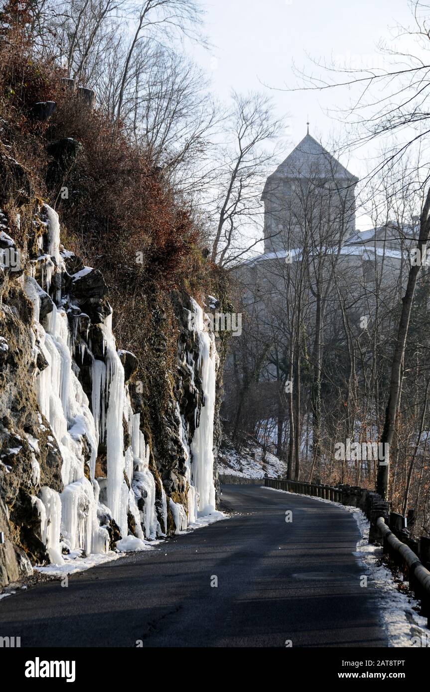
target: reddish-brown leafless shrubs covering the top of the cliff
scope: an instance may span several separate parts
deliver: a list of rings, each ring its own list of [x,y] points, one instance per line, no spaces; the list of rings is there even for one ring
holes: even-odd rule
[[[111,280],[166,289],[204,268],[200,228],[150,154],[103,111],[87,107],[64,71],[35,59],[30,4],[3,7],[0,139],[30,172],[37,194],[62,217],[73,248]],[[35,104],[55,102],[51,117]],[[203,242],[203,241],[202,241]],[[200,276],[198,280],[200,280]],[[198,281],[197,281],[198,282]]]

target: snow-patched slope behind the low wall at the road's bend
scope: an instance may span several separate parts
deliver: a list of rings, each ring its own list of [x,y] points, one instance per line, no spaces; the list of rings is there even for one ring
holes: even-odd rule
[[[265,473],[271,477],[287,473],[287,464],[270,452],[263,450],[260,445],[251,443],[237,452],[229,441],[224,441],[218,453],[218,473],[220,475],[236,475],[244,478],[264,478]]]

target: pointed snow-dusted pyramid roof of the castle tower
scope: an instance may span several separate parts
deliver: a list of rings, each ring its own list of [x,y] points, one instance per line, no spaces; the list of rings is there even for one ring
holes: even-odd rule
[[[310,136],[308,128],[301,143],[293,149],[285,161],[269,176],[269,179],[311,178],[312,176],[358,183],[358,178],[346,170],[332,154],[329,154],[316,139]]]

